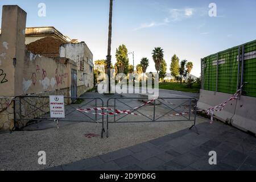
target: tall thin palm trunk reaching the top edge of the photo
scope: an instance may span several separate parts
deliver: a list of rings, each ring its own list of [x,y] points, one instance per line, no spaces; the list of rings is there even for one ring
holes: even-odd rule
[[[109,39],[108,39],[108,56],[106,56],[107,60],[107,73],[109,77],[109,93],[111,91],[110,88],[110,69],[111,69],[111,41],[112,41],[112,11],[113,11],[113,0],[110,0],[109,4]]]

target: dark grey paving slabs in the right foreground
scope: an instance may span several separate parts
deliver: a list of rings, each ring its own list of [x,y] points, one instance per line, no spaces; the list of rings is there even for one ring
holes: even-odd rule
[[[256,170],[256,138],[221,122],[197,125],[135,146],[48,170]],[[209,151],[217,152],[210,166]]]

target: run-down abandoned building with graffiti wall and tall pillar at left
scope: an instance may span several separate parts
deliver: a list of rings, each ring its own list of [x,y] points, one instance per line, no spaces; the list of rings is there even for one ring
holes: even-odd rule
[[[26,28],[26,15],[19,6],[3,6],[0,130],[14,129],[16,96],[77,97],[93,88],[93,54],[85,42],[54,27]]]

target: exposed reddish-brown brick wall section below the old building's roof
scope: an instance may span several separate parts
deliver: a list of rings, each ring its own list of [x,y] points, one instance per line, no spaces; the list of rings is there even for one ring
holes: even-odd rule
[[[45,57],[59,57],[60,45],[64,42],[48,36],[26,45],[28,51]]]

